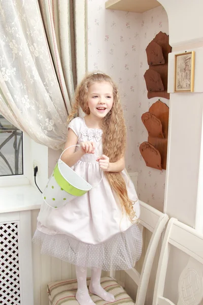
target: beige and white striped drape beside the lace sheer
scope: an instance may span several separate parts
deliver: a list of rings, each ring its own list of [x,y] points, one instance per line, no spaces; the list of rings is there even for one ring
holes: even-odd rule
[[[74,0],[38,0],[54,68],[67,110],[76,85]]]

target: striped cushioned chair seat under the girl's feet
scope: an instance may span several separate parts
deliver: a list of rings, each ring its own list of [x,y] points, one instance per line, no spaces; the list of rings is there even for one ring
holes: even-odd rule
[[[87,278],[89,285],[90,278]],[[111,304],[128,304],[134,305],[133,300],[129,297],[126,291],[114,279],[105,277],[101,278],[101,286],[108,292],[113,293],[115,301]],[[50,305],[78,305],[76,300],[77,280],[57,281],[52,282],[47,287]],[[90,293],[94,303],[105,305],[108,302],[101,299],[99,296]]]

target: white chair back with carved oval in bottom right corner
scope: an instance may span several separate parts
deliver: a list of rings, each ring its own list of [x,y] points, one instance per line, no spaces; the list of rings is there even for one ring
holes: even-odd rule
[[[180,249],[189,260],[178,284],[178,305],[198,305],[203,298],[203,234],[171,218],[164,235],[154,288],[153,305],[175,305],[163,297],[170,247]],[[180,256],[181,259],[181,256]]]

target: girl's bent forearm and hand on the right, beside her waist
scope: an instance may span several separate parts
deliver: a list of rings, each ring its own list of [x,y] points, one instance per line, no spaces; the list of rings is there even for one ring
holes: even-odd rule
[[[109,158],[105,155],[97,159],[99,167],[104,171],[121,172],[125,168],[124,156],[116,162],[109,162]]]

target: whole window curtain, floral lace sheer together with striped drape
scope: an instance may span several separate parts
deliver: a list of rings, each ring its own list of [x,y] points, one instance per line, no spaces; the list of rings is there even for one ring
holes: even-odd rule
[[[54,149],[66,140],[74,95],[69,6],[70,0],[0,2],[0,112]]]

